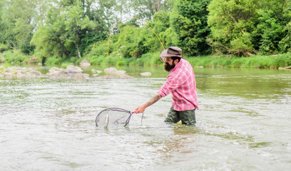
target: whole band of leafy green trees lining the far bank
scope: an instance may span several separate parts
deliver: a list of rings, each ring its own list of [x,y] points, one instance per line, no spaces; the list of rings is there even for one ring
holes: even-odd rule
[[[5,61],[118,58],[121,65],[146,64],[163,46],[179,46],[189,57],[289,53],[290,9],[290,0],[1,0],[0,53]],[[163,46],[146,24],[125,19],[113,28],[107,57],[111,28],[126,16],[146,21]]]

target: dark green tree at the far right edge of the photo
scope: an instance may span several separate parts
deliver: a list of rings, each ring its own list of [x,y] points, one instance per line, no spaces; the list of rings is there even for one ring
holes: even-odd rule
[[[261,1],[261,7],[257,9],[255,28],[252,32],[254,47],[265,54],[286,52],[290,17],[289,0]],[[286,46],[283,46],[283,42],[286,43]]]

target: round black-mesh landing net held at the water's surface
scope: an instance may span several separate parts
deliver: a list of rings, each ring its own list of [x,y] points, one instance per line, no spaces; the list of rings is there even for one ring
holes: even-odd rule
[[[106,108],[96,116],[96,126],[103,128],[108,128],[108,125],[126,126],[132,115],[133,112],[122,108]],[[143,122],[143,116],[141,122]]]

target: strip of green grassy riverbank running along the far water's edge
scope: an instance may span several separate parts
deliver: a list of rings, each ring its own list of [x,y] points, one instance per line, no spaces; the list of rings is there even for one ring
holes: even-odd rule
[[[9,54],[9,55],[8,55]],[[17,54],[17,56],[13,55]],[[121,58],[117,55],[111,56],[84,56],[83,58],[47,58],[46,65],[58,65],[66,68],[68,65],[77,65],[84,59],[92,65],[101,66],[163,66],[158,58],[159,53],[146,53],[141,58]],[[19,53],[1,53],[4,63],[36,63],[40,64],[42,58],[36,56],[21,56]],[[291,54],[283,53],[274,56],[195,56],[185,57],[193,67],[205,68],[285,68],[291,66]],[[3,65],[3,64],[1,64]]]

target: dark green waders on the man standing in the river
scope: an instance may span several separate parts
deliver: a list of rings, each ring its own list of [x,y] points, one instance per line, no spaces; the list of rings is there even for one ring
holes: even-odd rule
[[[195,109],[193,110],[184,110],[177,111],[174,110],[173,105],[170,108],[170,112],[168,113],[167,118],[165,118],[165,123],[178,123],[182,121],[183,125],[195,125]]]

